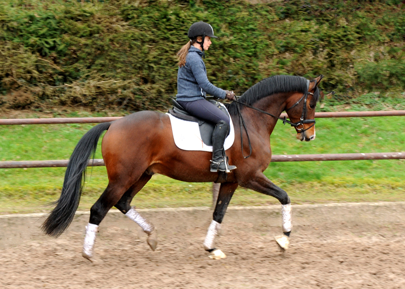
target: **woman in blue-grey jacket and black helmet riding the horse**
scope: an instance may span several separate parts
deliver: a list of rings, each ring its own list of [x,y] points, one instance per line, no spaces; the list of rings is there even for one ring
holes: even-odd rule
[[[207,69],[203,61],[204,52],[211,45],[214,30],[203,21],[195,22],[188,30],[188,41],[177,56],[179,71],[177,73],[176,101],[191,115],[215,123],[212,135],[211,172],[226,171],[223,155],[224,141],[230,130],[229,117],[226,113],[206,100],[207,92],[214,97],[236,100],[233,91],[223,90],[213,85],[207,78]],[[236,166],[228,165],[228,170]]]

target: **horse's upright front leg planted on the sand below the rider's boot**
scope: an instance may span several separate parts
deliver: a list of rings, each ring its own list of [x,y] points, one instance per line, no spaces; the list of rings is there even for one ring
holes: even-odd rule
[[[233,196],[233,192],[235,191],[237,186],[237,182],[228,182],[222,183],[221,187],[219,188],[217,205],[215,206],[213,220],[208,227],[207,236],[204,241],[204,249],[212,254],[210,258],[226,258],[226,255],[222,253],[221,250],[214,247],[214,241],[219,229],[221,228],[221,223],[222,219],[224,218],[226,208],[228,207],[228,204]]]

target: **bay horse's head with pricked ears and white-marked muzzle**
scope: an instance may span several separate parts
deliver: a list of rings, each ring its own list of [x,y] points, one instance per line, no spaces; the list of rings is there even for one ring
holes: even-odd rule
[[[287,100],[286,112],[291,122],[295,123],[297,139],[310,141],[315,139],[315,107],[319,100],[318,84],[323,78],[319,75],[309,82],[308,93],[294,93]]]

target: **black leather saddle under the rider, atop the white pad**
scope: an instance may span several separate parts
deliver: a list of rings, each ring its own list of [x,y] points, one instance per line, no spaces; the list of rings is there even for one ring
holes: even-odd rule
[[[214,104],[216,107],[218,107],[220,110],[222,110],[227,115],[229,115],[226,108],[223,105],[221,105],[220,102],[217,102],[217,101],[214,101],[214,100],[209,100],[209,102]],[[214,132],[215,124],[212,123],[212,122],[208,122],[208,121],[205,121],[203,119],[199,119],[199,118],[196,118],[195,116],[190,115],[174,99],[172,99],[172,104],[173,104],[173,109],[170,109],[169,113],[171,115],[173,115],[174,117],[177,117],[179,119],[183,119],[183,120],[187,120],[187,121],[193,121],[193,122],[198,123],[199,132],[201,134],[201,139],[204,141],[204,143],[207,146],[212,146],[212,133]],[[229,132],[228,132],[228,135],[229,135]]]

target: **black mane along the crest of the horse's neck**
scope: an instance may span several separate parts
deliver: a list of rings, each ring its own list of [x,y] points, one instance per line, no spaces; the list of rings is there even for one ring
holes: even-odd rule
[[[279,93],[298,91],[305,93],[307,90],[307,79],[301,76],[292,75],[275,75],[261,80],[245,91],[238,99],[239,102],[253,105],[258,100],[261,100],[268,95]],[[316,88],[311,103],[316,103],[319,100],[319,89]],[[244,108],[245,106],[238,103],[227,104],[226,108],[230,115],[237,115],[237,107]]]

